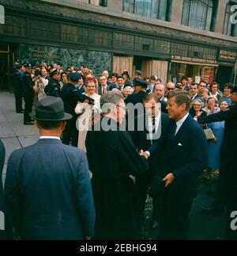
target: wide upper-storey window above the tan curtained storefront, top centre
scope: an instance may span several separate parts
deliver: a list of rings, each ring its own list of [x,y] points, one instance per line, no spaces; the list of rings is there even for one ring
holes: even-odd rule
[[[123,0],[123,10],[140,16],[171,21],[172,0]]]

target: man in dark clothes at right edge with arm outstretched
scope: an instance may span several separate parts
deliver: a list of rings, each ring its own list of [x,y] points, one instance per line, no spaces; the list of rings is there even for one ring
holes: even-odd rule
[[[220,204],[228,210],[227,239],[237,239],[237,231],[231,230],[231,212],[237,210],[237,86],[231,89],[231,105],[229,110],[220,111],[208,117],[199,117],[201,124],[225,121],[223,143],[220,149],[220,174],[216,197]],[[210,209],[210,211],[215,209]]]

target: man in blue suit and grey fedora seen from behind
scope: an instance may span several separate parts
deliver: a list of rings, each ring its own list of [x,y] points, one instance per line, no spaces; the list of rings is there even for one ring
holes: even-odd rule
[[[95,209],[85,153],[61,143],[70,114],[59,97],[36,108],[40,139],[13,151],[6,171],[6,205],[22,239],[90,239]]]

